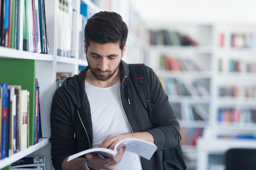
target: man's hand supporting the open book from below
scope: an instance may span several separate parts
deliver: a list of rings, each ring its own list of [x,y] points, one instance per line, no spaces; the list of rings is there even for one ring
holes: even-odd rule
[[[85,155],[87,159],[87,165],[90,170],[94,169],[107,169],[114,170],[124,155],[126,147],[120,148],[116,157],[114,158],[101,158],[96,154],[88,153]]]

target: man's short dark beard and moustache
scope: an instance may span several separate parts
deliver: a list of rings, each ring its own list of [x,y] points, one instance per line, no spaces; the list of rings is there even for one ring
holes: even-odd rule
[[[98,74],[98,72],[102,72],[99,68],[92,68],[92,66],[90,65],[90,63],[88,62],[88,67],[90,69],[90,71],[92,72],[92,75],[99,81],[107,81],[108,79],[110,79],[116,72],[117,69],[119,68],[119,65],[121,63],[121,60],[119,62],[119,64],[117,65],[117,67],[114,68],[114,70],[106,70],[104,72],[107,72],[106,75],[100,75]]]

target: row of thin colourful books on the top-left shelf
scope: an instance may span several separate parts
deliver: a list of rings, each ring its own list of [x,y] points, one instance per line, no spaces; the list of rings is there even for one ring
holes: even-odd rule
[[[48,53],[44,0],[1,0],[0,7],[0,46]]]

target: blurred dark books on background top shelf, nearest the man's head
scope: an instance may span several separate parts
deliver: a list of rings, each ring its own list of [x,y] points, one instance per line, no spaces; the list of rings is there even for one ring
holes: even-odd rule
[[[163,46],[198,46],[198,42],[189,35],[178,31],[149,30],[149,44]]]

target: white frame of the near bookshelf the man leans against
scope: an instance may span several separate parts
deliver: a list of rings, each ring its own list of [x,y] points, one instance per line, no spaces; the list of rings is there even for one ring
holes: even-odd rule
[[[38,78],[39,86],[40,86],[40,111],[41,111],[41,123],[42,123],[42,133],[43,137],[39,140],[38,144],[33,146],[29,146],[29,148],[22,150],[18,153],[11,155],[10,157],[6,157],[5,159],[0,160],[0,169],[5,166],[10,165],[14,161],[18,159],[33,155],[45,155],[45,165],[46,170],[54,169],[51,161],[51,144],[49,142],[50,137],[50,108],[52,97],[56,90],[56,72],[71,72],[72,76],[74,74],[79,73],[79,66],[87,66],[88,62],[84,59],[79,59],[79,44],[81,42],[79,31],[83,31],[81,27],[81,22],[79,19],[81,17],[80,7],[81,4],[87,5],[87,13],[88,16],[97,13],[99,11],[115,11],[124,18],[124,21],[128,24],[129,29],[132,28],[133,31],[129,30],[131,33],[131,37],[138,37],[136,35],[136,27],[132,25],[132,21],[135,19],[139,20],[139,18],[133,17],[134,20],[130,20],[130,15],[134,15],[135,11],[132,11],[132,7],[130,5],[130,0],[118,1],[118,0],[100,0],[97,1],[99,4],[94,4],[90,0],[71,0],[70,5],[73,9],[76,10],[77,16],[76,19],[76,34],[75,41],[76,44],[76,53],[74,54],[74,58],[61,57],[57,55],[57,44],[60,39],[60,34],[58,24],[59,20],[61,20],[61,16],[58,11],[58,0],[45,0],[45,17],[46,17],[46,27],[47,27],[47,37],[49,43],[49,52],[48,54],[38,54],[33,52],[25,52],[21,50],[14,50],[10,48],[5,48],[0,46],[0,59],[11,59],[13,61],[17,59],[24,60],[35,60],[35,77]],[[127,8],[129,7],[129,8]],[[136,16],[136,15],[135,15]],[[134,23],[133,23],[134,24]],[[132,38],[135,39],[135,38]],[[129,43],[132,41],[128,40]],[[133,40],[134,41],[134,40]],[[141,43],[139,43],[141,44]],[[132,48],[130,48],[132,50]],[[133,50],[134,51],[134,50]],[[130,54],[129,54],[130,53]],[[127,52],[126,56],[131,55],[131,52]],[[128,58],[128,57],[127,57]],[[8,73],[6,74],[8,76]],[[24,75],[25,76],[25,75]]]

